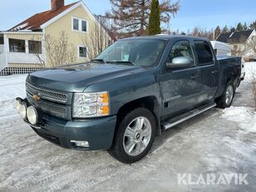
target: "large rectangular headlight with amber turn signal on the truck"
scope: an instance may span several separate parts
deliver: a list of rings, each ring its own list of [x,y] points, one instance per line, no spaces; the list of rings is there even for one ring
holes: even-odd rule
[[[73,117],[81,118],[108,115],[110,115],[108,92],[74,94]]]

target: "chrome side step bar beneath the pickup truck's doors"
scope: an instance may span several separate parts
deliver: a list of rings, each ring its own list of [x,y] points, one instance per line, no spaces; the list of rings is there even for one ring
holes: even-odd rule
[[[190,118],[197,116],[200,113],[203,113],[204,111],[208,111],[209,109],[214,108],[214,106],[216,106],[216,104],[211,103],[210,105],[208,104],[208,105],[200,106],[199,108],[189,111],[185,114],[182,114],[181,116],[175,116],[169,122],[165,122],[163,124],[163,128],[164,130],[168,130],[173,126],[176,126],[182,123],[183,121],[187,121]]]

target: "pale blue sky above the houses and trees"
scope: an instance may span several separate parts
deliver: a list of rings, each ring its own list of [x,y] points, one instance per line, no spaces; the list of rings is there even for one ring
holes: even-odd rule
[[[4,31],[37,12],[50,8],[51,0],[2,0],[0,30]],[[66,4],[76,0],[66,0]],[[84,0],[91,12],[102,14],[111,8],[108,0]],[[171,29],[202,27],[211,29],[219,25],[229,27],[238,22],[256,20],[256,0],[180,0],[180,12],[171,20]]]

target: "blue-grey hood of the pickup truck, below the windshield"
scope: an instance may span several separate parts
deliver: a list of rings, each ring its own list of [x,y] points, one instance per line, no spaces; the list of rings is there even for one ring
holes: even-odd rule
[[[81,92],[92,83],[141,71],[145,69],[140,66],[86,63],[36,71],[27,76],[27,82],[52,90]]]

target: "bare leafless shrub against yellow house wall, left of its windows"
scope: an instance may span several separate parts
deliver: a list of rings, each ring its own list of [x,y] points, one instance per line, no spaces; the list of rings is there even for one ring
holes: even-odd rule
[[[62,31],[58,39],[45,35],[42,48],[44,54],[35,53],[42,66],[62,66],[76,62],[76,49],[68,43],[66,32]]]

